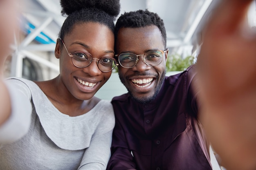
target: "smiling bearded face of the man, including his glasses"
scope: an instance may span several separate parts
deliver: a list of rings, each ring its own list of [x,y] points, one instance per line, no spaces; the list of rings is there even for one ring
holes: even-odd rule
[[[155,25],[121,28],[117,36],[121,82],[135,101],[145,104],[153,101],[164,82],[168,53],[163,46],[161,31]]]

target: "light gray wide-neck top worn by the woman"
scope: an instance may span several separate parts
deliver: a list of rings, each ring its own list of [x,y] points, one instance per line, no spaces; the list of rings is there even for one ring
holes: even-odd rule
[[[115,117],[109,101],[70,117],[59,112],[32,81],[9,79],[31,99],[28,133],[0,148],[1,170],[105,170]],[[19,97],[19,96],[17,96]]]

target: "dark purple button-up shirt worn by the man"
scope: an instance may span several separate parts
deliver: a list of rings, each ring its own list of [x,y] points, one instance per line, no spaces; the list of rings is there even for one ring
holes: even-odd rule
[[[107,170],[211,170],[209,145],[197,120],[195,67],[166,77],[156,99],[112,99],[116,116]]]

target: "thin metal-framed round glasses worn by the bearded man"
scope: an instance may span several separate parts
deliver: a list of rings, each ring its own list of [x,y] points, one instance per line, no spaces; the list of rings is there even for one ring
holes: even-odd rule
[[[145,54],[137,55],[135,53],[121,53],[119,55],[115,55],[118,57],[119,64],[124,68],[132,68],[136,66],[139,61],[139,56],[143,56],[142,61],[148,66],[157,66],[159,65],[164,57],[164,53],[166,51],[163,50],[154,50],[148,51]]]

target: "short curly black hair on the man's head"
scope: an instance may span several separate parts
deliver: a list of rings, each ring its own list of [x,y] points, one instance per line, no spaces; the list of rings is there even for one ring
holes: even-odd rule
[[[139,28],[155,25],[162,33],[162,40],[164,47],[166,48],[166,30],[164,27],[164,21],[159,17],[157,13],[153,13],[146,10],[138,10],[125,12],[118,19],[115,25],[115,39],[120,28]],[[116,41],[115,41],[116,42]]]

